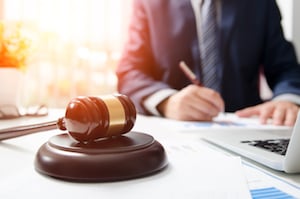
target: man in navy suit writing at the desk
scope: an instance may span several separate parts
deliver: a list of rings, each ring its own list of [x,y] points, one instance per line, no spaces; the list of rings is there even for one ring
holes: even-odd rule
[[[284,38],[276,1],[214,0],[218,89],[191,85],[178,67],[184,60],[202,81],[195,1],[134,0],[129,39],[117,68],[119,92],[142,114],[205,121],[226,111],[258,115],[262,123],[272,118],[276,125],[293,125],[300,66]],[[259,93],[262,72],[273,91],[266,102]]]

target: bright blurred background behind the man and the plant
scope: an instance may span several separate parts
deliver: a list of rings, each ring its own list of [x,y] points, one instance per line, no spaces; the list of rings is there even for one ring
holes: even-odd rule
[[[300,49],[299,0],[277,0],[287,39]],[[33,35],[22,103],[65,107],[78,95],[116,92],[115,68],[126,41],[132,0],[0,0],[0,19]],[[298,50],[299,52],[299,50]],[[298,53],[299,54],[299,53]]]

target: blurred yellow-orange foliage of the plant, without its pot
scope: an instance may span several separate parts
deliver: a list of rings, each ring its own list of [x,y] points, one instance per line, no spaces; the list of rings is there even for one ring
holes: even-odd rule
[[[0,22],[0,67],[24,69],[31,53],[31,40],[22,22]]]

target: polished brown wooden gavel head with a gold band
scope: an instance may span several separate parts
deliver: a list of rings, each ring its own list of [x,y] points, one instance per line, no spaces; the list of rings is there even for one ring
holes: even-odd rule
[[[79,142],[93,142],[129,132],[135,120],[132,101],[116,94],[72,99],[57,126]]]

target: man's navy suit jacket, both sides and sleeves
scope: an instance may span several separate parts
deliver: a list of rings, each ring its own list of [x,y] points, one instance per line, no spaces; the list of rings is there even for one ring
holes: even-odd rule
[[[135,0],[133,5],[129,40],[116,71],[118,90],[147,114],[146,97],[190,84],[178,67],[180,60],[201,76],[200,52],[190,0]],[[262,102],[261,71],[274,96],[300,95],[300,67],[284,38],[276,1],[222,0],[220,15],[217,75],[225,110]]]

